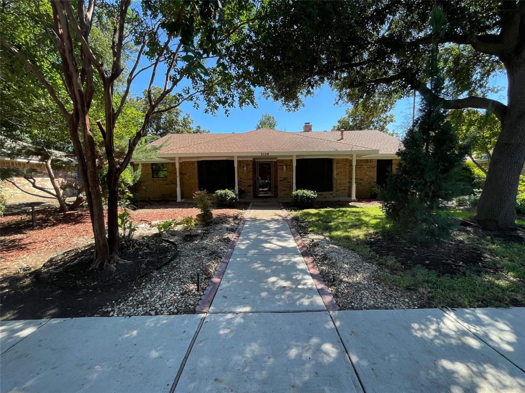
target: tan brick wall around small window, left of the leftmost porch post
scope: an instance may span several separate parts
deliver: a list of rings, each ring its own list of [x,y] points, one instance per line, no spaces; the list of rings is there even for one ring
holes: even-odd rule
[[[177,199],[177,167],[175,162],[166,164],[167,177],[154,178],[151,163],[143,163],[140,174],[139,199]],[[136,170],[138,165],[133,165]]]

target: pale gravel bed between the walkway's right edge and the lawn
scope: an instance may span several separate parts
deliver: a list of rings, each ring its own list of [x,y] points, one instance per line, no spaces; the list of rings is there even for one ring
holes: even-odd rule
[[[406,309],[423,304],[380,280],[386,272],[352,250],[333,243],[328,236],[308,232],[307,223],[292,219],[321,276],[341,310]]]

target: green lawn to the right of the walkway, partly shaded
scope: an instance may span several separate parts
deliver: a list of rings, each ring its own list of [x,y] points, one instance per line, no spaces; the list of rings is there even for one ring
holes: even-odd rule
[[[451,209],[458,218],[471,212]],[[367,244],[370,235],[381,236],[390,227],[379,205],[349,205],[334,209],[309,209],[292,213],[308,222],[308,230],[327,235],[364,259],[386,266],[382,279],[401,288],[416,288],[434,307],[506,307],[525,303],[525,244],[504,241],[488,232],[464,239],[481,250],[488,268],[463,268],[456,274],[438,274],[424,266],[406,268],[393,256],[380,257]],[[524,220],[517,220],[525,226]]]

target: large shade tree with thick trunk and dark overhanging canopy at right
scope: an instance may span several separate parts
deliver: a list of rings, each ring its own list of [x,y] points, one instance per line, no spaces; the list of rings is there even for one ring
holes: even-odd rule
[[[438,4],[446,13],[438,42],[446,78],[443,107],[488,111],[501,123],[477,221],[489,228],[512,227],[525,161],[525,2]],[[424,72],[433,5],[388,0],[263,3],[230,55],[251,84],[291,109],[324,83],[350,103],[367,94],[396,98],[414,90],[429,100],[436,94]],[[495,90],[490,78],[497,72],[507,75],[506,105],[488,97]]]

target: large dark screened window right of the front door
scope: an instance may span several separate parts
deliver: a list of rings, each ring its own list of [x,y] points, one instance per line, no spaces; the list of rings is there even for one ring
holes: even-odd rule
[[[296,161],[298,190],[332,191],[333,160],[331,158],[302,158]]]

